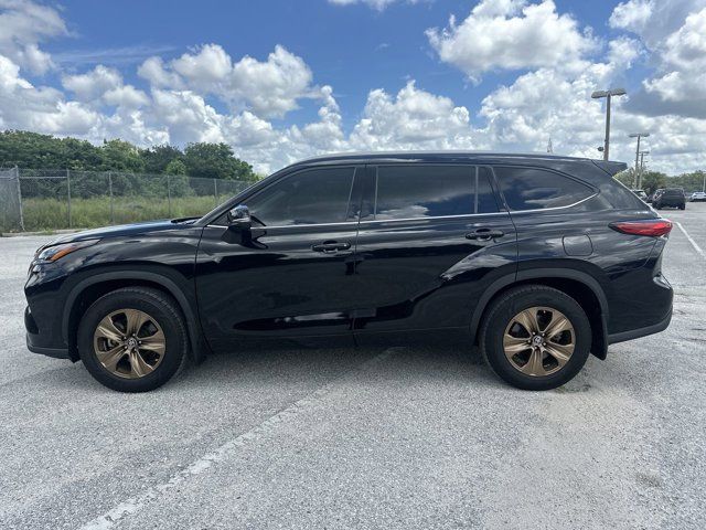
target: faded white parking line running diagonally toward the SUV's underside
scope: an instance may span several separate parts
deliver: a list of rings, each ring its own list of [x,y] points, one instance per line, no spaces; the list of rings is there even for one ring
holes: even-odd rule
[[[394,348],[389,348],[382,352],[379,356],[368,359],[362,364],[359,364],[357,367],[349,370],[333,381],[324,384],[312,394],[309,394],[308,396],[292,403],[287,409],[279,411],[277,414],[268,417],[263,423],[253,427],[246,433],[236,436],[235,438],[226,442],[211,453],[205,454],[204,456],[189,465],[186,468],[172,475],[165,483],[151,486],[141,494],[138,494],[137,496],[120,502],[115,508],[106,511],[104,515],[84,524],[82,527],[82,530],[110,530],[122,519],[142,510],[142,508],[145,508],[147,505],[153,502],[165,492],[176,488],[190,477],[204,473],[213,464],[236,455],[239,448],[247,445],[249,442],[256,442],[259,438],[266,436],[278,425],[292,421],[302,410],[318,404],[321,398],[331,392],[333,386],[350,378],[355,372],[368,370],[374,365],[379,364],[394,351]]]

